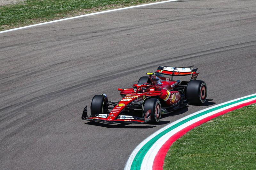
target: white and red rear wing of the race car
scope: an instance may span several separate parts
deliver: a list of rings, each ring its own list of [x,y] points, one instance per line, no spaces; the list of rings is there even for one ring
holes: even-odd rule
[[[173,76],[185,76],[185,75],[191,75],[192,74],[191,80],[196,80],[196,77],[199,74],[199,73],[196,73],[197,69],[198,68],[192,68],[192,67],[159,66],[155,73],[172,75],[172,80],[173,80]]]

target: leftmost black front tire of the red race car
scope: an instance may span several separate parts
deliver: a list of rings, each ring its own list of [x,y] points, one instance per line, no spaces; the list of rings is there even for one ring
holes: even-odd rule
[[[91,115],[104,113],[106,109],[106,102],[103,95],[95,95],[91,103]]]

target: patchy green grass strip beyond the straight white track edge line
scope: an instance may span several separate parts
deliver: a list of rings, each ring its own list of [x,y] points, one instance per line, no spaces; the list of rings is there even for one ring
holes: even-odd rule
[[[157,0],[26,0],[0,6],[0,30]]]

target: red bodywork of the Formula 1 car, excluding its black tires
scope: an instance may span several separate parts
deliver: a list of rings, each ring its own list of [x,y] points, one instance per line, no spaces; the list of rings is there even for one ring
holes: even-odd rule
[[[165,70],[157,70],[155,73],[168,74],[168,75],[189,75],[192,74],[191,80],[195,80],[198,73],[195,71],[191,72],[172,72]],[[101,121],[105,123],[117,123],[117,122],[127,122],[127,123],[145,123],[148,121],[149,113],[143,115],[143,103],[144,100],[150,97],[158,98],[162,101],[161,105],[165,107],[178,105],[181,100],[181,93],[175,90],[179,86],[179,82],[170,81],[170,78],[160,77],[156,75],[150,75],[149,79],[151,83],[145,84],[133,84],[133,88],[130,89],[118,89],[120,95],[123,96],[122,100],[118,103],[113,104],[112,110],[106,114],[92,115],[91,117],[86,117],[84,120]],[[104,94],[103,94],[104,95]],[[141,118],[136,118],[133,116],[120,115],[123,110],[126,110],[130,105],[136,105],[141,103]],[[138,109],[139,110],[139,109]],[[150,111],[150,110],[149,110]],[[165,112],[162,111],[162,114]],[[167,113],[167,112],[166,112]],[[87,114],[87,108],[86,108]],[[83,119],[83,116],[82,116]],[[150,120],[150,118],[149,118]]]

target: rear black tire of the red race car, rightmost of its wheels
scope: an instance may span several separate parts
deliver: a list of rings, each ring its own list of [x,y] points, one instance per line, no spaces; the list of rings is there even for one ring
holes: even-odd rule
[[[207,97],[207,86],[204,81],[191,80],[186,89],[186,98],[189,104],[204,104]]]

